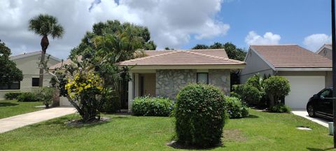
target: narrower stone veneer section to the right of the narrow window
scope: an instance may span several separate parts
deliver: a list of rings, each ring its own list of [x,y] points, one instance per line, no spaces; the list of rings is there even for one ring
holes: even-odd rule
[[[230,70],[209,69],[209,84],[220,87],[225,95],[230,96]]]

